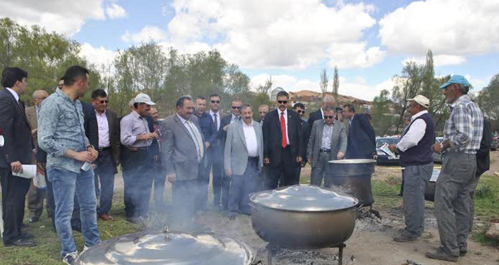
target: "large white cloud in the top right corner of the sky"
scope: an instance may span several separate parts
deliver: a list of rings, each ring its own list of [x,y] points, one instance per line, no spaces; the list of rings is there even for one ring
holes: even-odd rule
[[[381,43],[397,53],[484,54],[499,48],[499,1],[415,1],[380,21]]]

